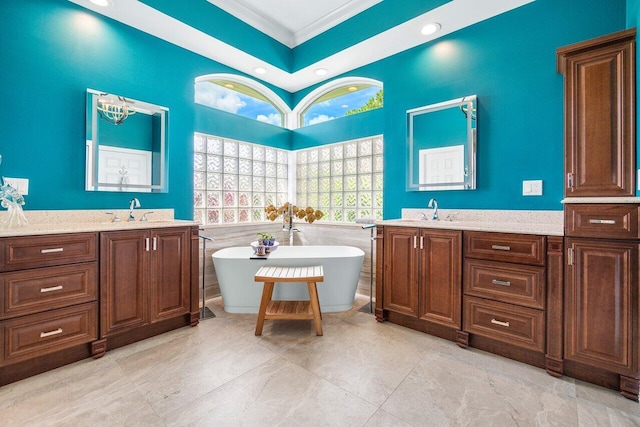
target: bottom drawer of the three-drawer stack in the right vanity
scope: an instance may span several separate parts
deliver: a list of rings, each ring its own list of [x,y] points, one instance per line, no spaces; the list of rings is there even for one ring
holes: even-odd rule
[[[544,311],[464,297],[464,330],[497,341],[544,351]]]

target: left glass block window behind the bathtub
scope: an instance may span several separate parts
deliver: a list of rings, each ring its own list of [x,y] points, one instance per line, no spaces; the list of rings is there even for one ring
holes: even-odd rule
[[[265,206],[287,201],[286,150],[196,133],[193,218],[201,224],[265,221]]]

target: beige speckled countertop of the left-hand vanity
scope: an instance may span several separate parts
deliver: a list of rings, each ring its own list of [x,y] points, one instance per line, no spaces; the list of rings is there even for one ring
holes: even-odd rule
[[[140,221],[147,213],[148,221]],[[119,222],[112,222],[115,215]],[[6,212],[0,212],[0,221]],[[34,236],[59,233],[84,233],[99,231],[136,230],[176,226],[199,225],[195,221],[173,218],[173,209],[136,209],[136,221],[127,221],[129,210],[68,210],[68,211],[25,211],[29,224],[14,227],[0,227],[0,237]]]

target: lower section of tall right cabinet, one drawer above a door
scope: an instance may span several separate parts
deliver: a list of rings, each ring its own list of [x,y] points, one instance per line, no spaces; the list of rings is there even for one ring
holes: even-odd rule
[[[633,400],[640,389],[639,208],[565,207],[565,372]]]

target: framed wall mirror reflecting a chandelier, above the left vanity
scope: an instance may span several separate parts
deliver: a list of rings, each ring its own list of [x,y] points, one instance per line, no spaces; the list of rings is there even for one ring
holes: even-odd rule
[[[166,192],[168,114],[159,105],[87,89],[86,189]]]

